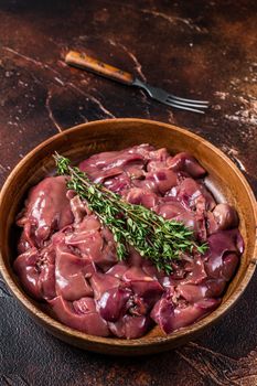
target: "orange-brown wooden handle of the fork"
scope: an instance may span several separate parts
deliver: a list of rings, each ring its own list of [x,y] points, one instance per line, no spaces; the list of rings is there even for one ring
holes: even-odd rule
[[[125,83],[126,85],[131,85],[133,83],[133,76],[131,74],[84,53],[69,51],[65,57],[65,62],[71,66],[88,69],[114,81]]]

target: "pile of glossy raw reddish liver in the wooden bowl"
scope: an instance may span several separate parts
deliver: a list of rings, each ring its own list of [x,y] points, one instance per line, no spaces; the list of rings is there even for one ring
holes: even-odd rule
[[[66,325],[100,336],[135,339],[154,324],[171,333],[214,310],[244,243],[237,213],[216,204],[199,162],[140,144],[95,154],[79,168],[128,202],[183,222],[208,249],[174,260],[169,276],[132,247],[118,261],[109,229],[67,191],[64,176],[49,176],[31,189],[17,221],[22,234],[14,270],[26,292]]]

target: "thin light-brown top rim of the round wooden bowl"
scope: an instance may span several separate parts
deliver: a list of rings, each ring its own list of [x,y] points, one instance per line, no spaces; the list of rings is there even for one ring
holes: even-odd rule
[[[115,118],[115,119],[104,119],[104,120],[95,120],[90,122],[85,122],[77,126],[74,126],[69,129],[65,129],[65,131],[62,131],[60,133],[56,133],[52,136],[51,138],[46,139],[45,141],[41,142],[39,146],[36,146],[34,149],[32,149],[12,170],[10,175],[8,176],[7,181],[4,182],[2,190],[0,192],[0,208],[2,204],[2,200],[4,195],[8,193],[9,186],[13,179],[15,178],[17,171],[20,170],[23,164],[26,163],[28,159],[31,158],[31,156],[35,154],[39,150],[42,150],[45,146],[47,146],[50,142],[54,141],[55,139],[60,137],[65,137],[67,133],[71,135],[73,131],[77,130],[83,130],[87,129],[90,126],[104,126],[104,125],[111,125],[116,122],[130,122],[130,124],[143,124],[143,125],[151,125],[151,126],[159,126],[159,127],[164,127],[168,129],[175,130],[176,132],[181,132],[188,137],[193,138],[194,140],[203,143],[207,148],[210,148],[213,152],[215,152],[223,161],[229,165],[229,168],[233,169],[233,171],[237,174],[238,179],[244,185],[244,189],[248,195],[248,199],[251,204],[251,208],[254,212],[255,216],[255,223],[257,224],[257,207],[256,207],[256,200],[255,195],[246,181],[245,176],[242,174],[242,172],[237,169],[237,167],[231,161],[231,159],[225,156],[219,149],[217,149],[214,144],[205,140],[204,138],[174,125],[170,124],[164,124],[161,121],[157,120],[149,120],[149,119],[140,119],[140,118]],[[257,230],[256,230],[256,236],[257,236]],[[176,332],[173,332],[170,335],[167,336],[142,336],[140,339],[136,340],[122,340],[122,339],[116,339],[116,337],[101,337],[101,336],[95,336],[95,335],[89,335],[83,332],[79,332],[77,330],[74,330],[72,328],[68,328],[61,322],[56,321],[55,319],[51,318],[43,311],[39,310],[33,302],[30,300],[29,296],[26,296],[18,286],[17,283],[12,280],[8,268],[6,266],[6,262],[2,258],[2,254],[0,253],[0,272],[2,274],[3,279],[6,280],[8,287],[11,289],[13,294],[18,298],[18,300],[22,303],[22,305],[32,314],[34,315],[38,320],[43,321],[44,325],[50,325],[53,328],[55,331],[60,331],[64,333],[65,335],[68,335],[69,337],[76,337],[77,340],[84,340],[87,342],[92,343],[98,343],[104,346],[122,346],[127,347],[128,350],[130,347],[140,347],[140,346],[149,346],[149,345],[161,345],[162,343],[168,343],[169,341],[174,341],[179,337],[184,337],[190,334],[194,334],[199,332],[200,330],[205,329],[210,323],[219,320],[221,317],[223,317],[231,308],[235,304],[235,302],[239,299],[244,290],[246,289],[250,278],[253,277],[255,269],[256,269],[256,264],[257,264],[257,240],[255,242],[255,247],[254,247],[254,256],[253,259],[249,261],[248,267],[245,271],[245,276],[242,279],[239,286],[234,290],[234,292],[231,294],[231,297],[222,303],[215,311],[213,311],[211,314],[207,317],[203,318],[199,322],[189,325],[186,328],[183,328]]]

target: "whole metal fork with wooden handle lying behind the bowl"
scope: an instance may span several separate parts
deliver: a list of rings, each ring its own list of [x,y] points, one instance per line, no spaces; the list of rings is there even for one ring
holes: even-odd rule
[[[152,99],[156,99],[171,107],[200,114],[204,114],[203,109],[208,108],[207,100],[180,98],[175,95],[167,93],[162,88],[150,86],[149,84],[141,82],[139,78],[132,76],[131,74],[116,68],[109,64],[103,63],[101,61],[93,58],[85,53],[69,51],[65,57],[65,62],[71,66],[88,69],[93,73],[126,84],[128,86],[142,88]]]

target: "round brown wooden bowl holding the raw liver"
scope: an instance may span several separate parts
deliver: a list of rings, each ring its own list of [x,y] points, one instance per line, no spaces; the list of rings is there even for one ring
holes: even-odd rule
[[[56,150],[74,161],[108,150],[119,150],[139,143],[167,147],[171,153],[186,151],[207,170],[206,184],[218,202],[234,205],[240,218],[245,253],[239,269],[231,282],[222,304],[197,323],[164,336],[154,328],[141,339],[126,341],[98,337],[75,331],[55,321],[44,312],[20,287],[13,274],[17,234],[14,218],[21,208],[28,189],[54,171]],[[218,149],[184,129],[144,119],[113,119],[76,126],[44,141],[32,150],[12,171],[0,195],[0,270],[11,291],[30,314],[53,335],[82,349],[119,355],[139,355],[161,352],[181,345],[201,333],[224,315],[238,300],[256,267],[256,202],[243,174]]]

